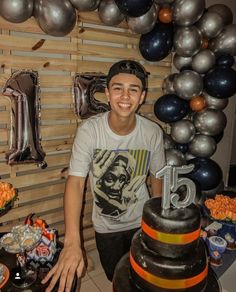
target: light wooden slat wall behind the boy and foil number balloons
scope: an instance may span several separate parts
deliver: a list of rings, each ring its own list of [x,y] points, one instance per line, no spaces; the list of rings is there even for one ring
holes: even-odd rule
[[[142,61],[151,75],[147,99],[140,113],[155,120],[153,104],[162,95],[162,81],[170,74],[171,57],[156,63],[145,62],[137,47],[139,36],[131,33],[125,23],[116,28],[103,25],[96,12],[80,13],[76,27],[66,37],[45,35],[33,17],[19,24],[0,18],[0,30],[0,87],[5,85],[15,70],[32,69],[39,73],[41,144],[48,164],[44,170],[34,164],[12,167],[6,164],[11,103],[0,95],[0,177],[19,191],[14,208],[0,217],[0,232],[9,231],[29,213],[36,213],[45,218],[50,226],[57,228],[63,239],[65,179],[61,171],[68,166],[73,138],[80,123],[74,113],[74,75],[82,72],[106,74],[114,61],[123,58]],[[105,100],[101,94],[96,97]],[[92,196],[88,186],[83,213],[83,235],[87,249],[94,247],[91,211]]]

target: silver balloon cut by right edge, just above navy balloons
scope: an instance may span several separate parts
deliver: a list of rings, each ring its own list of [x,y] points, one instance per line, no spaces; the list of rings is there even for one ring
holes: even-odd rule
[[[217,54],[236,56],[236,24],[229,24],[221,33],[209,42],[209,49]]]

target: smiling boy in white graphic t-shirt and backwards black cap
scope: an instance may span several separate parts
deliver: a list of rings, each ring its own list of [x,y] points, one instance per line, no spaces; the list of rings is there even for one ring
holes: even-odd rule
[[[162,130],[136,114],[147,89],[147,73],[137,62],[115,63],[107,76],[109,112],[87,119],[75,137],[66,183],[65,241],[57,264],[44,279],[52,278],[46,292],[60,278],[58,291],[70,291],[75,272],[84,268],[80,215],[87,174],[94,196],[93,225],[100,260],[111,281],[116,264],[129,251],[140,228],[144,202],[161,196],[162,181],[155,173],[165,164]]]

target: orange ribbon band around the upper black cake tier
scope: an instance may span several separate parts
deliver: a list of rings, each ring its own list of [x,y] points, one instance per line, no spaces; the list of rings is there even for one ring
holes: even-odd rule
[[[144,222],[144,220],[142,220],[142,230],[154,240],[158,240],[163,243],[179,245],[193,242],[194,240],[199,238],[201,232],[201,229],[199,227],[197,230],[189,233],[182,234],[164,233],[151,228]]]

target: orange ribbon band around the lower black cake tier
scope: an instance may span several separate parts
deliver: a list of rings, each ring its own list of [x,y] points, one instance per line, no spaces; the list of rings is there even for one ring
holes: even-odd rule
[[[202,282],[208,273],[208,266],[205,267],[205,269],[198,275],[187,278],[187,279],[179,279],[179,280],[170,280],[165,279],[161,277],[157,277],[144,269],[142,269],[134,260],[130,253],[130,264],[135,271],[136,274],[142,279],[144,279],[146,282],[165,289],[184,289],[184,288],[190,288],[193,286],[196,286],[200,282]]]

